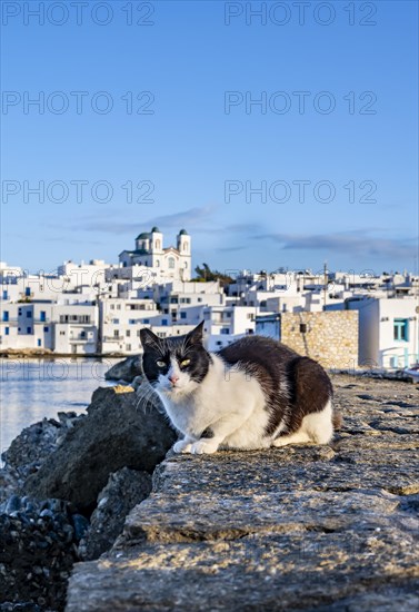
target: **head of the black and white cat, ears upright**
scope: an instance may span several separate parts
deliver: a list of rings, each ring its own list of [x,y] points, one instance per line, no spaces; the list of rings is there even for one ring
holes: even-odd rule
[[[207,375],[211,357],[202,346],[202,327],[203,322],[189,334],[170,338],[140,330],[143,373],[169,398],[192,393]]]

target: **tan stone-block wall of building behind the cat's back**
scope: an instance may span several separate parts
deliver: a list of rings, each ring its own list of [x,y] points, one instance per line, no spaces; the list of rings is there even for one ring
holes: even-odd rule
[[[327,368],[358,366],[358,313],[282,313],[281,342]]]

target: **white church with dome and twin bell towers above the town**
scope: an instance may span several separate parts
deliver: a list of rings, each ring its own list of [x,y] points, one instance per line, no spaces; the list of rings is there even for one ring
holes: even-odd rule
[[[136,238],[133,250],[122,250],[119,261],[122,267],[143,266],[152,268],[159,276],[177,280],[191,278],[191,238],[186,229],[177,236],[177,246],[163,247],[163,235],[158,227],[142,231]]]

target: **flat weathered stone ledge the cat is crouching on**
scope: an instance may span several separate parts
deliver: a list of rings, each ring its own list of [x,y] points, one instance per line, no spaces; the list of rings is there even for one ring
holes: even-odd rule
[[[112,551],[76,565],[67,612],[416,609],[417,389],[333,383],[329,446],[170,453]]]

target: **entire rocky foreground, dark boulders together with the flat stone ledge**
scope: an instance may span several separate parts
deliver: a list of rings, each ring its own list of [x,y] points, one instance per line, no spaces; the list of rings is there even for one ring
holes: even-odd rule
[[[43,419],[3,453],[0,612],[62,612],[66,601],[68,612],[142,605],[203,611],[220,589],[225,599],[215,610],[246,609],[247,596],[249,610],[320,610],[321,604],[333,612],[392,612],[371,595],[372,588],[369,608],[362,599],[360,585],[369,579],[356,570],[357,559],[367,555],[368,564],[371,554],[388,589],[411,609],[412,580],[419,576],[417,386],[333,375],[345,423],[330,445],[208,457],[169,454],[161,463],[176,434],[161,406],[142,392],[136,362],[122,364],[112,376],[130,379],[137,392],[130,385],[99,388],[87,415]],[[367,546],[368,533],[376,549],[370,540]],[[313,582],[311,600],[309,594],[296,600],[298,572],[310,584],[306,574],[315,580],[320,562],[337,566],[337,586],[329,596],[327,583],[319,594]],[[400,578],[389,570],[398,565]],[[290,572],[289,584],[281,572]],[[278,589],[282,585],[281,604],[263,594],[268,578],[276,592],[275,576]],[[345,598],[347,608],[332,606]]]

